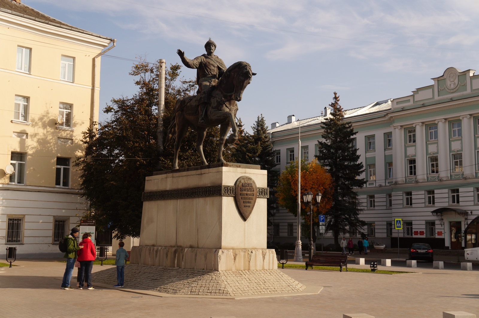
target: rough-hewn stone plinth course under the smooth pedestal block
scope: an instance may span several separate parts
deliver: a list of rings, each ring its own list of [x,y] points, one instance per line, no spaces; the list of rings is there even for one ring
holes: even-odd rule
[[[268,249],[195,249],[133,246],[130,263],[210,271],[274,270],[278,261]]]

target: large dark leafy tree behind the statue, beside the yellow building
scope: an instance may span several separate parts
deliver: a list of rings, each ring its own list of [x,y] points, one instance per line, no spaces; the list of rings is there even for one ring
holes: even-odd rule
[[[82,196],[90,202],[97,225],[115,231],[115,238],[139,236],[145,177],[158,170],[159,163],[161,169],[171,169],[172,146],[163,153],[157,148],[158,68],[143,59],[132,67],[129,75],[135,78],[137,93],[112,99],[105,108],[111,118],[83,132],[84,154],[75,161]],[[195,89],[194,81],[183,79],[180,70],[175,64],[166,71],[165,127],[176,100]],[[216,160],[218,135],[219,128],[208,129],[203,150],[209,162]],[[182,142],[182,167],[200,164],[195,143],[196,134],[189,130]]]

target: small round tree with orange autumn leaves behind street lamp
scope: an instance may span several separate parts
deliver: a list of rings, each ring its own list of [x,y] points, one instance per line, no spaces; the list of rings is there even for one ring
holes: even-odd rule
[[[298,162],[289,163],[285,170],[281,172],[278,186],[276,187],[278,204],[284,207],[294,216],[297,216],[297,189],[298,189]],[[319,162],[314,159],[311,162],[301,160],[301,217],[308,225],[302,230],[306,237],[309,236],[309,204],[303,202],[302,194],[305,192],[313,193],[313,226],[318,225],[318,216],[326,214],[332,204],[333,185],[331,175],[324,170]],[[321,202],[316,203],[315,195],[322,194]],[[316,241],[316,231],[313,231],[313,241]]]

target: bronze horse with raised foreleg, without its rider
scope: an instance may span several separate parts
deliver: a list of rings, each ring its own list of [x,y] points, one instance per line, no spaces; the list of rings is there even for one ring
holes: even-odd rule
[[[176,138],[173,169],[178,169],[178,151],[188,127],[193,128],[197,133],[196,150],[200,154],[201,164],[205,165],[208,164],[203,154],[203,140],[205,140],[206,130],[208,127],[220,125],[217,162],[225,162],[223,160],[223,146],[230,128],[232,128],[233,133],[228,137],[228,142],[235,143],[238,139],[238,127],[235,122],[236,112],[238,111],[236,102],[241,101],[243,91],[251,83],[253,75],[256,75],[256,73],[251,71],[250,64],[246,62],[236,62],[225,71],[216,88],[211,92],[210,104],[205,116],[206,125],[204,126],[198,126],[198,95],[188,96],[176,101],[165,142],[166,147],[173,138]]]

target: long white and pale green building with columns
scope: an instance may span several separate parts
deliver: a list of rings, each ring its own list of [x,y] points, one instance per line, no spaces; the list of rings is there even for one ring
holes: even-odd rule
[[[344,108],[347,105],[342,105]],[[298,156],[313,160],[321,123],[329,116],[295,120],[270,129],[280,170]],[[479,216],[479,75],[447,68],[430,86],[412,95],[345,111],[357,132],[356,147],[365,166],[357,189],[369,242],[406,248],[427,242],[436,249],[477,247]],[[394,229],[400,218],[403,230]],[[273,217],[274,242],[294,243],[296,218],[280,209]],[[465,233],[465,239],[461,234]],[[358,236],[359,233],[345,233]],[[303,243],[308,239],[303,238]],[[317,243],[332,243],[326,233]]]

